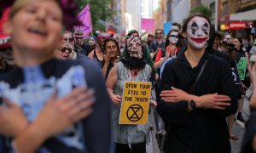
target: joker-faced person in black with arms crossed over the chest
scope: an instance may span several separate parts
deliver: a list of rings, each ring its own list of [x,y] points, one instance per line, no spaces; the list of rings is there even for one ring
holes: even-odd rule
[[[182,29],[187,49],[162,73],[157,111],[167,153],[231,152],[226,116],[236,112],[236,88],[228,62],[205,50],[210,27],[204,14],[191,14]]]

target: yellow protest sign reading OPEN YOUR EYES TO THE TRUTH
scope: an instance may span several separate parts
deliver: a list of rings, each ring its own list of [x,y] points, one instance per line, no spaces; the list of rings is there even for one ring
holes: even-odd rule
[[[125,82],[119,124],[146,124],[151,82]]]

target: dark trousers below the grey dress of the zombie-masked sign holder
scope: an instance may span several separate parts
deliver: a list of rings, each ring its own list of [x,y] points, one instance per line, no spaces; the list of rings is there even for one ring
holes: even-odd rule
[[[146,153],[146,143],[131,144],[131,148],[128,144],[116,143],[116,153]]]

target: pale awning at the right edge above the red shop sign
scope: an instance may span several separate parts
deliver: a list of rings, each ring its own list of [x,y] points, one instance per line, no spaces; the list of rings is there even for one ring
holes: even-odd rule
[[[230,20],[256,20],[256,9],[238,14],[230,14]]]

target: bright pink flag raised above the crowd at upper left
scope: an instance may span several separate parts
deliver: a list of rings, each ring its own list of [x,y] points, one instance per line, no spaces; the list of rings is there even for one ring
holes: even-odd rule
[[[81,26],[75,26],[75,30],[82,30],[84,32],[84,37],[87,37],[92,31],[91,20],[90,20],[90,6],[89,3],[84,7],[78,16],[81,21]]]

